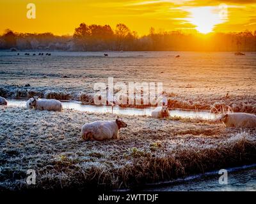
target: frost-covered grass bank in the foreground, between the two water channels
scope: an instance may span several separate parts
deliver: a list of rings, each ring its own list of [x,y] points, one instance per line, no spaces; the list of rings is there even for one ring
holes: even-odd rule
[[[120,138],[85,142],[81,126],[110,113],[0,107],[0,189],[120,189],[255,163],[256,129],[202,119],[123,115]],[[26,171],[36,170],[36,185]]]

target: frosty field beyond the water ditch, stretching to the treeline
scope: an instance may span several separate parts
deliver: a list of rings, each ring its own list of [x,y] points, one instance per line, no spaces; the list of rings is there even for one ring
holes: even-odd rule
[[[163,82],[174,108],[230,106],[256,113],[254,52],[19,53],[0,52],[0,96],[79,99],[80,92],[93,92],[95,82],[114,77],[115,82]]]

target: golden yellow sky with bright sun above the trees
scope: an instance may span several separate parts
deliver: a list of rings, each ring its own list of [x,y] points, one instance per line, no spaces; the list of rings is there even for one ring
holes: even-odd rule
[[[26,17],[28,3],[36,18]],[[256,30],[256,0],[0,0],[0,33],[73,34],[86,24],[126,24],[139,35],[182,29],[200,33]],[[221,5],[221,6],[220,6]]]

